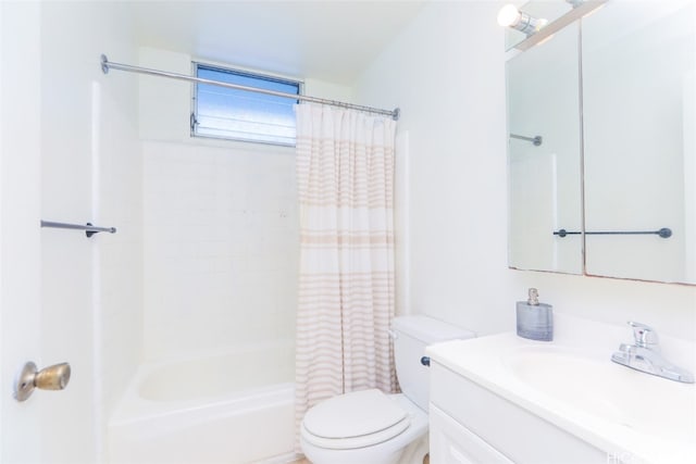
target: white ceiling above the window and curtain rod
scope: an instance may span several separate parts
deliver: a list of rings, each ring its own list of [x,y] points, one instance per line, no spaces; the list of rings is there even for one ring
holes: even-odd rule
[[[139,45],[351,85],[427,0],[137,1]]]

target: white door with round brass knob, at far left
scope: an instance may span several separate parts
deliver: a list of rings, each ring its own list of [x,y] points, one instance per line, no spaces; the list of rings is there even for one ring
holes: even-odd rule
[[[40,404],[12,398],[40,359],[40,7],[0,2],[0,461],[40,462]],[[21,38],[21,39],[20,39]],[[17,68],[23,70],[21,73]],[[21,111],[17,111],[20,109]],[[22,201],[16,201],[22,199]]]

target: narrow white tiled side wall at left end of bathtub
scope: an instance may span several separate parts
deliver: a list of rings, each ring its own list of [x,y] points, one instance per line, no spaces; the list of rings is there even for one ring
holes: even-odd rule
[[[107,2],[90,20],[92,48],[113,60],[137,60],[127,2]],[[86,52],[94,63],[95,52]],[[98,287],[92,296],[95,340],[107,421],[142,359],[142,155],[137,134],[138,81],[135,76],[97,72],[92,83],[92,216],[117,228],[100,235]]]

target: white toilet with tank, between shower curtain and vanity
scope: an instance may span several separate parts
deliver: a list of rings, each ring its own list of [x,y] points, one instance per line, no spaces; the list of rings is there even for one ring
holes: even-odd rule
[[[300,447],[312,464],[393,464],[410,454],[422,462],[430,396],[425,347],[475,335],[422,315],[395,317],[390,335],[402,393],[353,391],[307,411]]]

